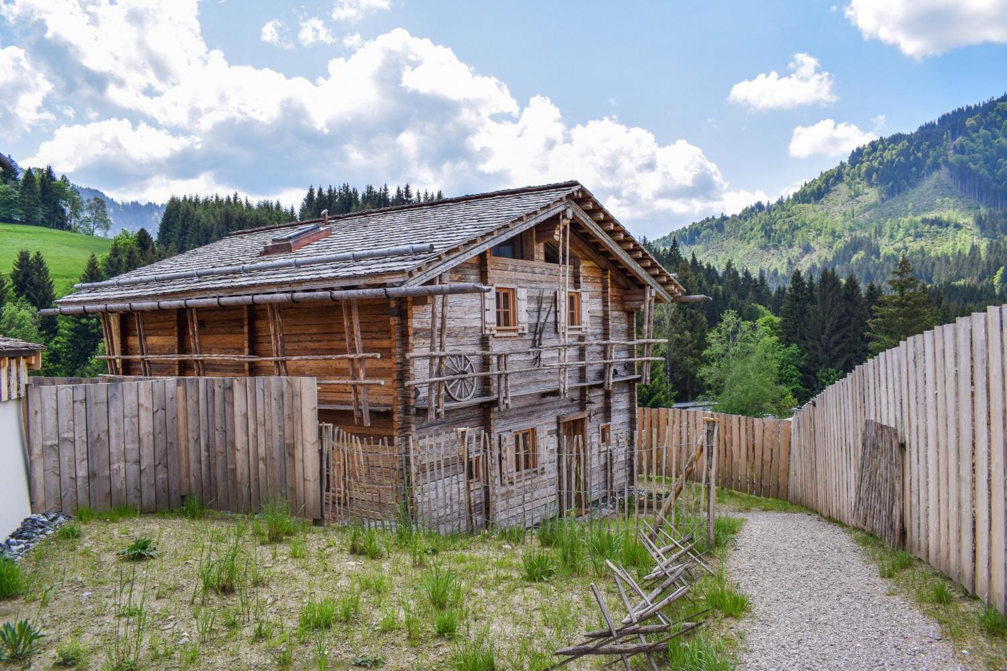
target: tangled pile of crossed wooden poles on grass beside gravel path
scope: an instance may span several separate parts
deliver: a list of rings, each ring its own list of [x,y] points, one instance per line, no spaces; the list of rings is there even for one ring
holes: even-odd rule
[[[626,615],[616,621],[595,584],[591,593],[601,612],[605,629],[587,632],[585,641],[556,651],[563,661],[553,665],[557,669],[587,655],[614,655],[629,671],[629,658],[645,655],[651,668],[658,664],[653,653],[668,647],[668,642],[703,624],[706,611],[673,621],[664,611],[680,598],[690,603],[689,590],[697,569],[712,572],[710,566],[696,549],[696,541],[689,536],[676,540],[663,529],[654,529],[646,522],[637,535],[655,561],[655,568],[637,582],[621,566],[605,561]],[[655,540],[657,539],[657,540]]]

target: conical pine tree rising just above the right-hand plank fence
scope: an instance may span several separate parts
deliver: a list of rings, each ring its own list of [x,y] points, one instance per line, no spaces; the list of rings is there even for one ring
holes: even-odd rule
[[[869,349],[875,355],[937,323],[926,287],[912,274],[912,266],[904,254],[887,284],[889,293],[877,299],[874,316],[868,321]]]

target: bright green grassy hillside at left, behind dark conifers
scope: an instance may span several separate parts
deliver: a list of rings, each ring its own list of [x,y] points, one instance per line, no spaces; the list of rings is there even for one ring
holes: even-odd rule
[[[88,257],[99,256],[109,251],[110,238],[85,236],[80,233],[56,231],[40,226],[0,224],[0,274],[7,277],[14,258],[22,249],[32,254],[40,251],[49,266],[56,295],[69,292],[73,284],[81,278]]]

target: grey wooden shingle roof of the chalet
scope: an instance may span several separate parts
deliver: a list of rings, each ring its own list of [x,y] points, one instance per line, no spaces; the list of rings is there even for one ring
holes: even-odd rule
[[[501,191],[463,195],[409,206],[368,210],[328,219],[332,234],[293,252],[260,256],[264,247],[284,231],[310,222],[236,232],[222,240],[170,259],[139,268],[120,278],[145,277],[179,271],[204,270],[278,259],[295,259],[401,245],[433,245],[430,253],[363,261],[343,261],[192,277],[125,286],[86,288],[56,301],[61,306],[83,303],[201,298],[353,286],[410,286],[425,284],[450,267],[464,262],[557,215],[570,217],[578,233],[641,286],[651,286],[659,300],[671,301],[685,293],[668,273],[584,186],[565,181]]]

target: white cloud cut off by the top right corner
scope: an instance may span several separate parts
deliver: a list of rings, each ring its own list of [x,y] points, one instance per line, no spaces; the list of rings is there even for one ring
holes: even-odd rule
[[[852,0],[846,16],[865,38],[894,44],[914,58],[1007,42],[1003,0]]]

